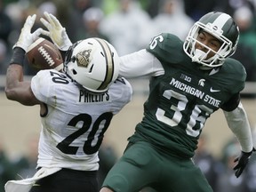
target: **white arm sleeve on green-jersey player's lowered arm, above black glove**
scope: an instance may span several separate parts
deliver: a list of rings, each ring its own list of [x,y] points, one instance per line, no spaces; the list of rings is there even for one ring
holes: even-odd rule
[[[228,127],[236,135],[239,141],[242,151],[252,151],[252,132],[249,124],[248,117],[244,110],[242,103],[240,102],[236,109],[232,111],[224,111]]]

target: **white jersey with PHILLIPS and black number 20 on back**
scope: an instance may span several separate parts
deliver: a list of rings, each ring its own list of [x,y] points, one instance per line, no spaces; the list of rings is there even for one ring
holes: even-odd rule
[[[47,105],[41,116],[37,167],[82,171],[99,169],[98,150],[110,121],[132,99],[132,86],[117,78],[108,92],[92,94],[56,70],[42,70],[31,80],[37,100]]]

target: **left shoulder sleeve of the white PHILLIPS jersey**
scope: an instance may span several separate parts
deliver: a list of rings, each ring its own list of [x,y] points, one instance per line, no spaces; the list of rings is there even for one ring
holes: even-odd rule
[[[31,89],[36,99],[47,104],[54,98],[50,79],[50,70],[41,70],[31,79]]]

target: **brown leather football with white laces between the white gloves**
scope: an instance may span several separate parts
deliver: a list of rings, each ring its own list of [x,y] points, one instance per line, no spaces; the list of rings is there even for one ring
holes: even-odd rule
[[[60,71],[63,68],[60,50],[43,37],[39,37],[28,47],[26,57],[28,65],[37,70],[54,68]]]

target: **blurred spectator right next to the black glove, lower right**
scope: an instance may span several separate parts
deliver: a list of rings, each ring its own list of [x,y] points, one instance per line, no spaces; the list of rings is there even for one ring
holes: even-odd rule
[[[218,177],[217,180],[217,192],[248,192],[245,186],[245,172],[239,177],[236,178],[233,167],[235,166],[235,158],[239,156],[241,149],[239,143],[234,138],[228,141],[227,145],[223,148],[223,163],[224,172]]]

